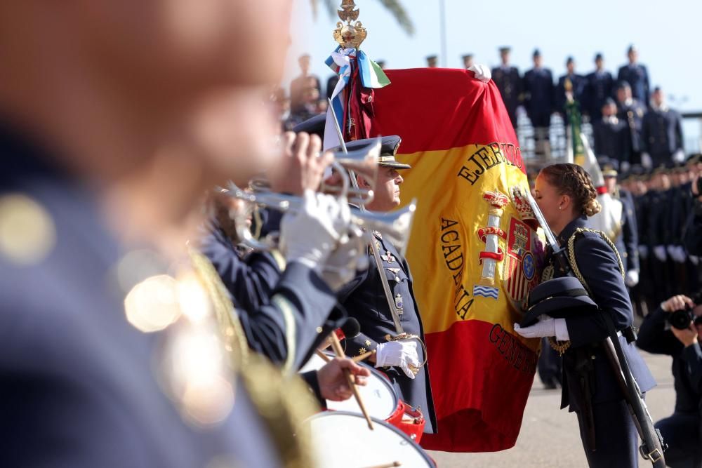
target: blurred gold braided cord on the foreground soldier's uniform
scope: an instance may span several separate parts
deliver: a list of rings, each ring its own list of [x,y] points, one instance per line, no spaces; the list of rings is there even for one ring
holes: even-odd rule
[[[265,357],[250,353],[244,328],[227,290],[211,262],[190,249],[190,258],[211,299],[220,335],[230,354],[232,372],[241,378],[246,394],[267,428],[280,460],[287,468],[314,465],[310,438],[303,435],[302,422],[319,408],[297,375],[286,377]]]

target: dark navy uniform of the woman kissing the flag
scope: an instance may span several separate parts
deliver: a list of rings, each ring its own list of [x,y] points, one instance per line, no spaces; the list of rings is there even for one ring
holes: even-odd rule
[[[576,218],[559,234],[560,245],[567,246],[578,228],[588,227],[583,216]],[[637,433],[614,370],[605,354],[602,342],[608,336],[602,314],[610,314],[614,326],[624,330],[631,326],[633,312],[629,294],[619,271],[614,250],[593,232],[579,234],[574,243],[574,255],[592,300],[600,311],[569,317],[566,320],[571,346],[563,355],[563,390],[561,408],[570,407],[578,413],[581,434],[586,433],[585,418],[592,408],[596,450],[585,454],[590,466],[634,467],[637,464]],[[552,255],[548,258],[553,262]],[[554,276],[564,276],[558,267]],[[642,392],[653,388],[655,381],[633,343],[619,337],[631,373]],[[585,440],[585,436],[583,436]]]

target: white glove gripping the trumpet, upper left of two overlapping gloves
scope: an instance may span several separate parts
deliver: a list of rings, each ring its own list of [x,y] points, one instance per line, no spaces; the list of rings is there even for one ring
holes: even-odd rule
[[[307,189],[303,206],[280,221],[280,251],[287,262],[300,262],[317,272],[350,222],[347,203]]]

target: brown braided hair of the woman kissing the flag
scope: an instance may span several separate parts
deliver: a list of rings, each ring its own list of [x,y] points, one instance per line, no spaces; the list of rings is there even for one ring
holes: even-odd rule
[[[583,215],[594,216],[602,210],[592,178],[581,166],[571,163],[552,164],[541,169],[541,173],[559,193],[570,196],[576,210]]]

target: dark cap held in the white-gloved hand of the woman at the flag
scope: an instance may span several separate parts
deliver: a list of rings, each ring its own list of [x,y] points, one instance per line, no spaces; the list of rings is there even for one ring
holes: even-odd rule
[[[574,314],[597,310],[597,304],[588,291],[574,276],[563,276],[544,281],[529,292],[527,313],[521,326],[536,323],[538,316],[548,315],[554,319],[565,319]]]

